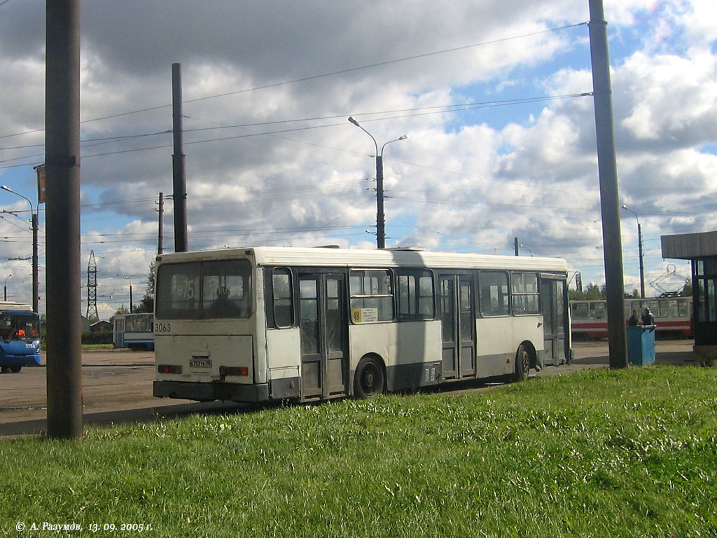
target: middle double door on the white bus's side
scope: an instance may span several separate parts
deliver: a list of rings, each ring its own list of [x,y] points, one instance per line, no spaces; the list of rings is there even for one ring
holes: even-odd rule
[[[439,310],[442,330],[442,377],[475,375],[475,311],[473,277],[440,275]]]

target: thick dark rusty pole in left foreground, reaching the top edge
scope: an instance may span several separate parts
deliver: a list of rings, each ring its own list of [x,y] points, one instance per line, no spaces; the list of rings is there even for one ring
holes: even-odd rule
[[[80,438],[80,0],[45,6],[47,435]]]

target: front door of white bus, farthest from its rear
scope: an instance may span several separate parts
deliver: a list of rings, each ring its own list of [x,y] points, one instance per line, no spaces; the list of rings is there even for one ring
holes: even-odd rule
[[[561,364],[566,357],[567,309],[565,282],[554,278],[541,279],[543,309],[543,366]]]

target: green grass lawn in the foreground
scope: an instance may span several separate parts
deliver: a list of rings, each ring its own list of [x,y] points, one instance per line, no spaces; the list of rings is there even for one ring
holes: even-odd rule
[[[716,536],[716,381],[598,369],[0,440],[0,534],[57,535],[16,532],[49,522],[84,529],[67,536]]]

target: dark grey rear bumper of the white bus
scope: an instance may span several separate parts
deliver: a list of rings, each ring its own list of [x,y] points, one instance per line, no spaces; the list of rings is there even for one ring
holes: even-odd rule
[[[239,383],[193,383],[183,381],[155,381],[152,394],[159,398],[179,398],[212,402],[265,402],[269,400],[269,385]]]

